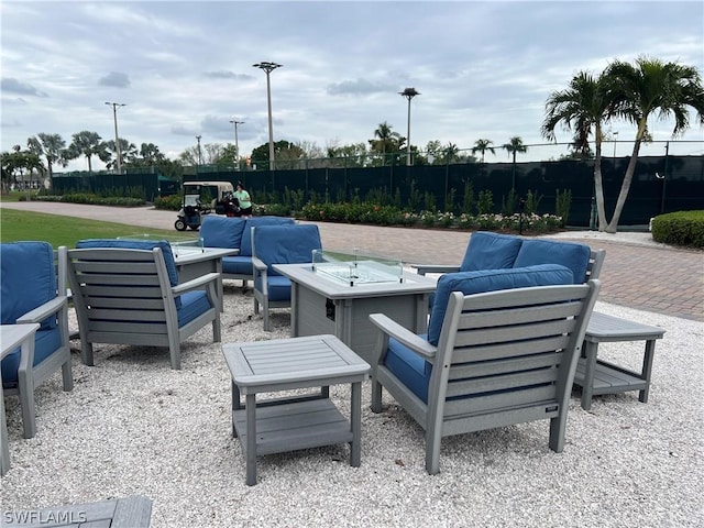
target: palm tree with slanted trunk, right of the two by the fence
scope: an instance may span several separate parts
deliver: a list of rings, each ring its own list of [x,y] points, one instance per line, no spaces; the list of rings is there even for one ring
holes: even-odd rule
[[[676,138],[690,128],[691,107],[700,125],[704,125],[704,87],[696,68],[649,57],[637,58],[635,65],[615,61],[604,75],[609,79],[616,114],[637,127],[614,216],[606,227],[607,232],[615,233],[636,170],[640,144],[648,134],[648,119],[653,113],[658,119],[674,118],[672,138]]]

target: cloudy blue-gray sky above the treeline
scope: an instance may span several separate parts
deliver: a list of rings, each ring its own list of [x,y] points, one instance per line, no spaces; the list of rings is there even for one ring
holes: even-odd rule
[[[244,122],[240,152],[250,153],[268,141],[266,76],[252,67],[260,62],[283,65],[271,74],[274,140],[322,148],[366,142],[383,121],[405,136],[406,87],[420,92],[413,144],[471,148],[514,135],[546,143],[549,95],[614,59],[653,56],[704,75],[701,1],[2,0],[0,15],[2,151],[40,132],[114,139],[110,101],[127,105],[120,136],[138,147],[155,143],[176,158],[196,135],[234,143],[234,119]],[[672,122],[650,128],[666,141]],[[614,130],[619,141],[635,135],[626,123]],[[701,128],[683,139],[697,143],[670,152],[704,153]],[[564,152],[534,147],[524,161]],[[85,158],[68,167],[85,168]]]

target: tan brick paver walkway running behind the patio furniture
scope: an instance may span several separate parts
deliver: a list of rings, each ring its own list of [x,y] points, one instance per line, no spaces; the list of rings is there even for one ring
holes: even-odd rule
[[[176,220],[175,212],[153,208],[141,208],[125,216],[122,209],[74,204],[6,202],[1,207],[156,229],[174,229]],[[358,248],[408,263],[459,263],[471,234],[458,230],[342,223],[318,226],[326,248]],[[600,276],[601,300],[704,321],[704,252],[592,240],[580,238],[579,232],[570,239],[562,235],[561,240],[574,240],[587,243],[594,249],[606,250],[606,260]]]

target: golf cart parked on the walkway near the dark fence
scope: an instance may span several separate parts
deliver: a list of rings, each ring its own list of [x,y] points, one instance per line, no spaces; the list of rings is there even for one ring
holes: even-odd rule
[[[215,210],[219,215],[228,213],[232,207],[234,187],[230,182],[185,182],[183,206],[174,227],[177,231],[190,228],[197,231],[204,215]]]

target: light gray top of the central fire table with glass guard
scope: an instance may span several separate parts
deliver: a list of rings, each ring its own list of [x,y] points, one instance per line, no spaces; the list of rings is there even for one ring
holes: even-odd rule
[[[355,284],[349,286],[339,280],[316,274],[312,264],[274,264],[282,275],[290,280],[301,284],[314,292],[331,299],[355,297],[388,297],[393,295],[430,294],[438,287],[435,277],[427,277],[404,271],[404,282]]]

